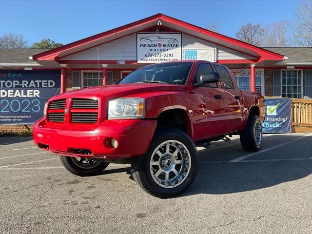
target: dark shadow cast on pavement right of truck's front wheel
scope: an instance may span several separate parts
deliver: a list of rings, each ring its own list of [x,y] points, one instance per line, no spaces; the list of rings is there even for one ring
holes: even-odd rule
[[[275,145],[277,145],[291,141],[298,137],[301,136],[273,135],[265,137],[265,140],[274,141],[274,143],[276,142]],[[306,147],[300,148],[296,146],[296,143],[299,141],[304,141],[303,144]],[[279,148],[280,151],[278,154],[276,151],[275,153],[271,153],[270,156],[272,156],[272,159],[309,158],[312,156],[312,149],[310,148],[312,144],[312,137],[305,137],[298,141],[294,141],[289,145],[291,144],[293,144],[291,151],[289,151],[289,147],[285,150],[281,147]],[[305,154],[300,154],[300,151],[304,151]],[[215,150],[215,153],[217,153],[217,150]],[[229,152],[229,155],[230,154],[231,152]],[[248,153],[246,152],[246,154]],[[231,194],[251,191],[301,179],[309,176],[311,173],[312,160],[310,159],[238,163],[204,163],[199,164],[197,176],[192,186],[179,196],[195,194]]]

